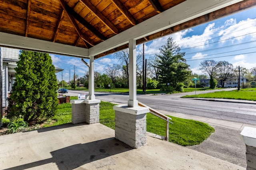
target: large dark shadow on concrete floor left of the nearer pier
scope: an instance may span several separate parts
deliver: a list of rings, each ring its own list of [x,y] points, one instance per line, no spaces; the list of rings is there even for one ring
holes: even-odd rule
[[[58,169],[72,170],[84,164],[132,150],[131,147],[114,137],[84,144],[76,144],[50,152],[52,158],[23,164],[5,170],[24,170],[36,166],[56,163]]]

